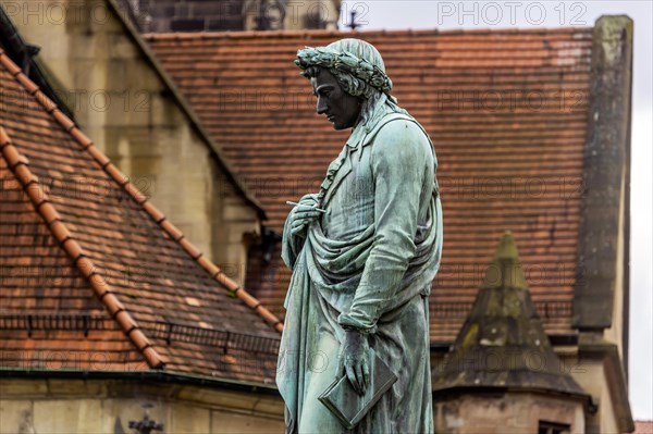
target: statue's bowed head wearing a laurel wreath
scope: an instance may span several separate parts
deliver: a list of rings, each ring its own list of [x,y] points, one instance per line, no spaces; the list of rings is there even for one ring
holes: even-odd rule
[[[366,101],[392,88],[381,54],[360,39],[306,47],[297,51],[295,64],[310,79],[318,113],[326,115],[335,129],[356,125]]]

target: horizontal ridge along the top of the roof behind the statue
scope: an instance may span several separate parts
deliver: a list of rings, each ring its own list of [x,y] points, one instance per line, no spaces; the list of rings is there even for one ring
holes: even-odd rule
[[[145,33],[141,37],[145,40],[152,39],[250,39],[257,37],[300,37],[300,36],[338,36],[338,37],[368,37],[368,36],[406,36],[406,35],[485,35],[485,34],[549,34],[575,33],[579,30],[591,30],[592,26],[574,27],[544,27],[544,28],[406,28],[406,29],[374,29],[374,30],[355,30],[344,33],[341,30],[328,29],[300,29],[300,30],[226,30],[226,32],[165,32],[165,33]]]

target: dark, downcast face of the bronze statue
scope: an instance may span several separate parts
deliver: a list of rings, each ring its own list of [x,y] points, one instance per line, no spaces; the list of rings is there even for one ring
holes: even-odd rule
[[[347,94],[329,71],[322,70],[310,79],[318,98],[318,114],[326,115],[334,129],[350,128],[360,115],[360,99]]]

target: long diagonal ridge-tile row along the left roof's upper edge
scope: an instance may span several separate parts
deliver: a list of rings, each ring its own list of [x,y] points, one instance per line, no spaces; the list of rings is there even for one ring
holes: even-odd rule
[[[93,140],[88,138],[88,136],[86,136],[79,128],[77,128],[75,123],[63,112],[61,112],[57,104],[50,100],[50,98],[39,90],[38,86],[32,82],[29,77],[23,74],[21,69],[13,63],[8,55],[4,55],[2,49],[0,49],[0,62],[8,67],[10,73],[25,88],[25,90],[34,96],[36,100],[48,111],[48,113],[52,114],[57,122],[82,146],[83,150],[90,153],[93,159],[100,164],[104,173],[115,181],[138,204],[140,204],[143,209],[150,215],[150,218],[152,218],[152,220],[172,239],[174,239],[184,249],[184,251],[186,251],[186,253],[188,253],[195,260],[195,262],[197,262],[205,271],[207,271],[215,282],[227,288],[231,295],[236,296],[267,323],[273,326],[274,330],[280,333],[283,331],[283,322],[269,309],[263,307],[256,297],[251,296],[245,288],[241,287],[236,282],[224,274],[218,265],[204,257],[199,249],[197,249],[193,243],[190,243],[185,235],[174,224],[172,224],[172,222],[170,222],[165,215],[157,209],[157,207],[153,206],[152,202],[148,201],[147,198],[138,190],[138,188],[130,183],[128,176],[124,175],[113,163],[111,163],[109,158],[93,144]],[[7,133],[4,133],[4,135],[7,136]],[[45,195],[45,191],[42,194]],[[81,246],[78,247],[81,250]],[[90,265],[91,268],[89,270],[93,271],[93,263]]]

